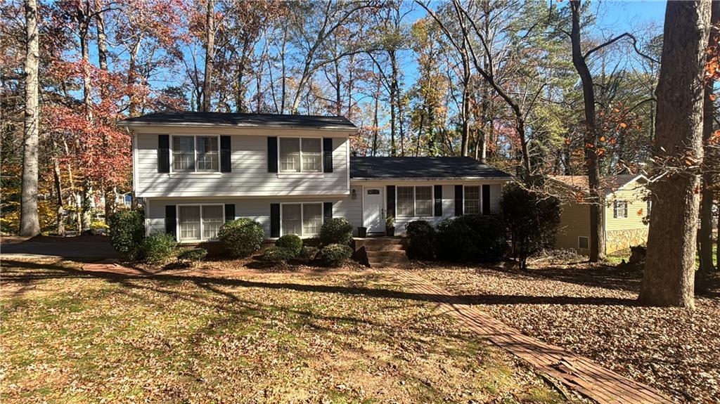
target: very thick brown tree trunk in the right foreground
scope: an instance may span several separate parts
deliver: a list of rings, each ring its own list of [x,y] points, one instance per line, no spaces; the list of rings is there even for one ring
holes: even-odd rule
[[[639,300],[694,306],[710,1],[668,1],[657,85],[652,215]],[[662,176],[661,176],[662,175]]]

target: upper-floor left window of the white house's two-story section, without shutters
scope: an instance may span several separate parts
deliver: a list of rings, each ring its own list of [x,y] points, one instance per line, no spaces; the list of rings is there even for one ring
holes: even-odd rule
[[[173,171],[215,173],[220,170],[217,136],[173,136]]]

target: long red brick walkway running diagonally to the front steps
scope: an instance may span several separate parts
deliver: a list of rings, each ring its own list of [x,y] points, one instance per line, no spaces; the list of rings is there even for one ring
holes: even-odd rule
[[[456,303],[451,293],[431,285],[415,272],[394,270],[393,273],[413,293],[446,296],[438,298],[444,302],[441,306],[467,329],[598,403],[673,403],[672,399],[648,385],[618,375],[567,349],[523,335],[479,308]]]

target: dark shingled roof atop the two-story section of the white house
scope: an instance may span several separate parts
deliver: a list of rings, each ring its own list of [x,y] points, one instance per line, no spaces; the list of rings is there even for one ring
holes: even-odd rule
[[[357,127],[343,116],[287,114],[230,114],[225,112],[158,112],[119,121],[120,126],[223,125],[237,127],[288,127],[307,129],[351,129]]]

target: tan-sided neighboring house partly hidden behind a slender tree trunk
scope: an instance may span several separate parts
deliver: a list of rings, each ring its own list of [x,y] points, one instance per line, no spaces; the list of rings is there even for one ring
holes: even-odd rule
[[[590,205],[588,177],[555,175],[557,189],[564,194],[556,247],[590,254]],[[647,241],[647,215],[652,208],[644,175],[614,175],[603,178],[604,237],[606,254]]]

